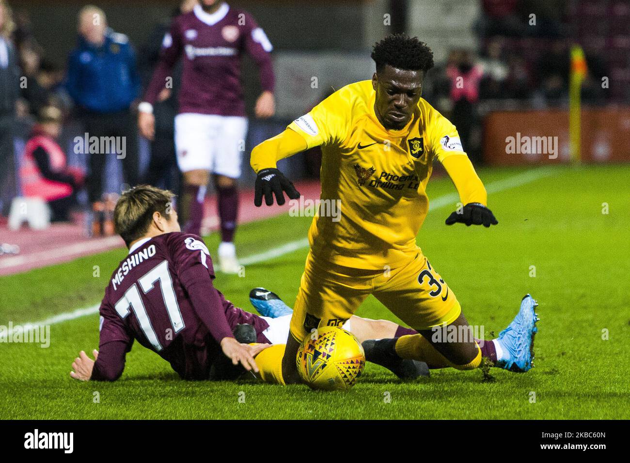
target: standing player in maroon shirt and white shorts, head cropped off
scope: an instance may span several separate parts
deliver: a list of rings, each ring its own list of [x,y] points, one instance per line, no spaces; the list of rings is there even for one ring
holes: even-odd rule
[[[139,105],[142,135],[152,139],[155,118],[152,104],[169,88],[171,71],[183,59],[179,110],[175,118],[175,147],[183,173],[185,232],[200,234],[203,198],[214,174],[219,198],[221,244],[219,264],[226,273],[238,273],[233,238],[238,215],[236,180],[247,133],[241,55],[248,53],[260,69],[263,92],[256,101],[256,116],[275,113],[272,45],[265,32],[246,11],[223,0],[200,0],[190,13],[177,16],[164,36],[161,60]]]

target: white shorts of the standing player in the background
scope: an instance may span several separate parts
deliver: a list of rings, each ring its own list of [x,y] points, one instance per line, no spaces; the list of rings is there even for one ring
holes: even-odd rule
[[[239,178],[247,126],[247,118],[240,116],[176,115],[175,149],[180,171],[203,169]]]

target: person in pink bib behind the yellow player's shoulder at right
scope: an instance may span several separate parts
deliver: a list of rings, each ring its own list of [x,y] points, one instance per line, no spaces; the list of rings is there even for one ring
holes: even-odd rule
[[[451,122],[457,127],[472,161],[481,161],[480,152],[473,143],[473,128],[478,122],[477,103],[479,101],[479,84],[483,77],[483,66],[474,62],[473,54],[467,50],[455,50],[450,57],[446,75],[450,80],[450,99],[452,101]]]

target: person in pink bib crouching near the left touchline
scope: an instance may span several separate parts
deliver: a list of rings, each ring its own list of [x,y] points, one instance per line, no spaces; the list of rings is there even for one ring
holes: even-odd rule
[[[83,171],[67,166],[66,154],[57,143],[63,117],[58,108],[45,106],[26,142],[20,182],[26,197],[45,200],[53,222],[66,222],[76,206],[76,193],[83,186]]]

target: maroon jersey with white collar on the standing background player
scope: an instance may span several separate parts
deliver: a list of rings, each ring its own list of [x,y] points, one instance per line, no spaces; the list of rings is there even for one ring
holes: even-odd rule
[[[177,16],[162,45],[161,59],[144,101],[153,104],[183,57],[180,113],[244,116],[241,55],[246,52],[260,71],[263,90],[273,91],[272,45],[249,13],[224,3],[215,13],[196,5]]]

